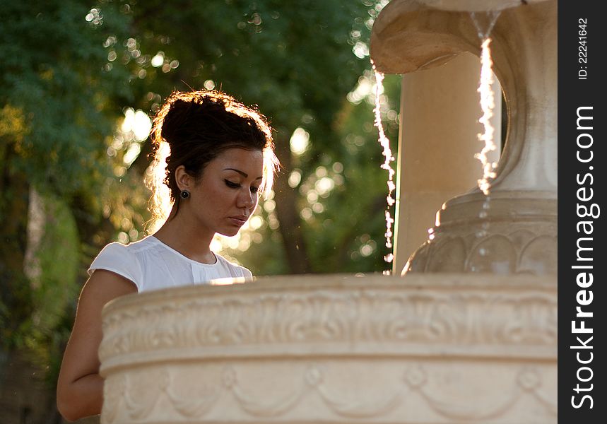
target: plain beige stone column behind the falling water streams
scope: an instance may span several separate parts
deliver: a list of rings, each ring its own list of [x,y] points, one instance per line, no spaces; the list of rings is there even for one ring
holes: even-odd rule
[[[397,168],[393,273],[428,238],[442,204],[476,186],[481,163],[474,154],[483,143],[478,81],[481,64],[460,54],[437,68],[403,75]],[[495,144],[500,146],[500,83],[493,84]],[[422,142],[420,142],[422,141]],[[490,160],[497,161],[499,151]]]

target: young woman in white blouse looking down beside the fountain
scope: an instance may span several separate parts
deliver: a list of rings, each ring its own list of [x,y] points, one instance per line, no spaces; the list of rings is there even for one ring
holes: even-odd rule
[[[211,252],[216,233],[236,235],[269,192],[278,160],[264,117],[216,91],[173,93],[154,121],[155,167],[164,170],[153,189],[153,213],[162,184],[172,208],[153,235],[107,245],[91,264],[57,383],[57,406],[67,420],[101,411],[99,375],[101,310],[129,293],[251,272]],[[163,158],[170,148],[170,155]]]

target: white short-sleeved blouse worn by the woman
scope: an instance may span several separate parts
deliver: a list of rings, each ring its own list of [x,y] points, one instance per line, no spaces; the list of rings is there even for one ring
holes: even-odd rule
[[[252,277],[251,271],[215,254],[215,264],[202,264],[148,236],[129,245],[113,242],[102,249],[90,264],[95,269],[112,271],[133,281],[139,293],[177,285],[204,284],[216,278]]]

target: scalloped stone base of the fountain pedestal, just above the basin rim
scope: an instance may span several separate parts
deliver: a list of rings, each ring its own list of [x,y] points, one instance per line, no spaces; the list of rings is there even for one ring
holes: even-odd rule
[[[403,273],[555,273],[556,201],[530,203],[499,194],[492,195],[489,208],[483,208],[481,195],[447,202],[437,213],[430,240],[411,255]],[[531,211],[521,212],[524,208]]]

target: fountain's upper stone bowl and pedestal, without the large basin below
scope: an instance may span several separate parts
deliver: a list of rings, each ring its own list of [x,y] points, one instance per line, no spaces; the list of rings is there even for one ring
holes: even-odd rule
[[[384,73],[409,73],[478,56],[486,11],[500,11],[490,37],[509,115],[491,200],[476,189],[447,201],[405,271],[556,273],[555,1],[392,1],[373,27],[373,60]]]

